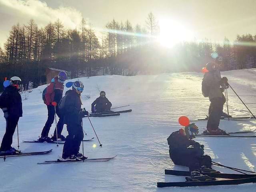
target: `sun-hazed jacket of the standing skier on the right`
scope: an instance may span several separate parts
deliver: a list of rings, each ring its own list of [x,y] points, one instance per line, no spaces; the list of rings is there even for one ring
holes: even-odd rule
[[[222,94],[223,90],[220,88],[222,80],[219,70],[216,69],[214,71],[206,72],[204,74],[204,81],[209,87],[209,100],[212,100],[212,98],[222,98],[224,96]]]

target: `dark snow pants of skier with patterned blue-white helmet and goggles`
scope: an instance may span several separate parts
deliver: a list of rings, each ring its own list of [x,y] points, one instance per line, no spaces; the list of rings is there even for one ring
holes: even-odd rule
[[[68,136],[63,147],[62,158],[76,155],[79,152],[81,141],[84,138],[82,125],[67,124]]]

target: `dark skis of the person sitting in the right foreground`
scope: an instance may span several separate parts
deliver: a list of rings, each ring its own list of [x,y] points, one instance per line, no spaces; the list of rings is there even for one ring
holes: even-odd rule
[[[175,176],[190,176],[189,171],[165,170],[165,174]],[[157,187],[188,187],[188,186],[210,186],[210,185],[234,185],[244,183],[255,183],[256,174],[226,174],[226,173],[204,173],[216,178],[214,181],[186,181],[186,182],[158,182]]]

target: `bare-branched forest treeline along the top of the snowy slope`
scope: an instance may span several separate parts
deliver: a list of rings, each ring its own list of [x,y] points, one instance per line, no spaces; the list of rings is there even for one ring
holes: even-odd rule
[[[20,76],[24,87],[45,83],[47,67],[70,71],[71,78],[103,74],[136,75],[200,71],[212,52],[222,56],[221,70],[256,67],[256,35],[237,35],[234,42],[181,42],[164,48],[156,42],[159,25],[150,12],[143,25],[113,19],[96,32],[84,19],[76,29],[60,20],[39,28],[31,19],[15,24],[0,48],[0,79]],[[175,38],[175,37],[174,37]],[[0,91],[2,90],[2,83]]]

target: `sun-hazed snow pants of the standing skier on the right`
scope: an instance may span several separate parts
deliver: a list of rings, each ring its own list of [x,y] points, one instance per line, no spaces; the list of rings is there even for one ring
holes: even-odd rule
[[[220,118],[223,112],[223,106],[226,102],[225,97],[212,98],[210,108],[209,108],[209,118],[207,121],[207,130],[217,130],[220,124]]]

